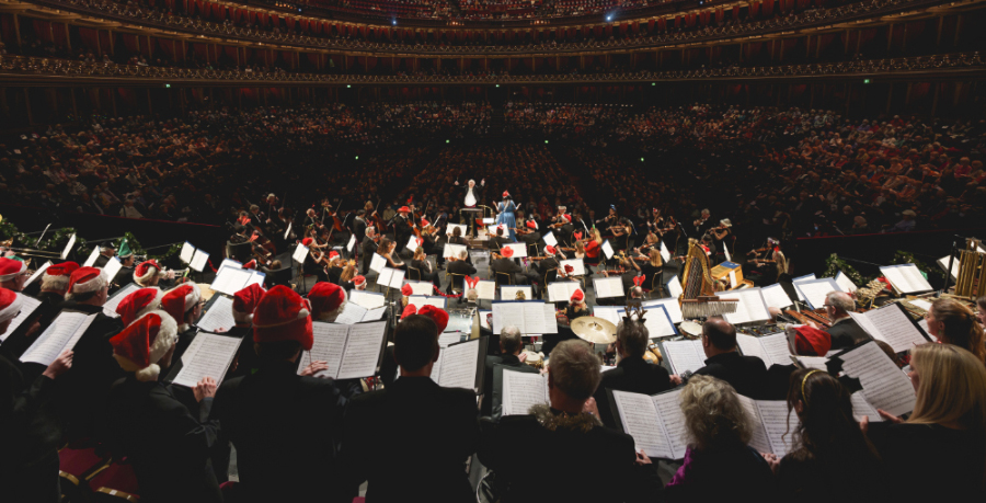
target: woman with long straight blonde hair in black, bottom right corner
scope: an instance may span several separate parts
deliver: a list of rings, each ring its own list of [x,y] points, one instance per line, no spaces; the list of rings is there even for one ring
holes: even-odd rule
[[[986,496],[986,367],[952,344],[910,352],[916,401],[907,421],[878,411],[868,424],[886,465],[887,485],[913,501],[982,501]]]

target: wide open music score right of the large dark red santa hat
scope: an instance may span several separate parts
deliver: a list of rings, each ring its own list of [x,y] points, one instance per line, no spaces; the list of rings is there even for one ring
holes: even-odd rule
[[[298,358],[298,374],[312,362],[323,361],[329,368],[319,377],[354,379],[377,373],[383,352],[387,322],[336,324],[313,321],[314,343]]]

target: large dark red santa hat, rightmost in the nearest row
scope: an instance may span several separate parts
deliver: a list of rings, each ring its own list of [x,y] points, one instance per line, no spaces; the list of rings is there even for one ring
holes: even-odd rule
[[[311,351],[311,309],[290,288],[276,285],[261,298],[253,311],[253,340],[259,343],[297,341]]]

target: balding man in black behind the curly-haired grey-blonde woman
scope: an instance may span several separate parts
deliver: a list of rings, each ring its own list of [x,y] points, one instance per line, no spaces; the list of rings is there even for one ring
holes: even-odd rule
[[[696,374],[729,382],[744,397],[759,399],[767,381],[767,366],[756,356],[743,356],[736,345],[736,329],[722,318],[710,318],[702,324],[702,348],[706,366]],[[681,384],[679,376],[672,382]]]

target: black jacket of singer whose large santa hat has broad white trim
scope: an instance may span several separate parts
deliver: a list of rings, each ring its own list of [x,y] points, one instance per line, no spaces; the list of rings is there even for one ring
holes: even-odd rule
[[[222,501],[209,461],[219,433],[219,423],[208,420],[211,402],[203,399],[195,418],[159,381],[131,374],[114,384],[107,424],[116,451],[134,466],[141,502]]]

